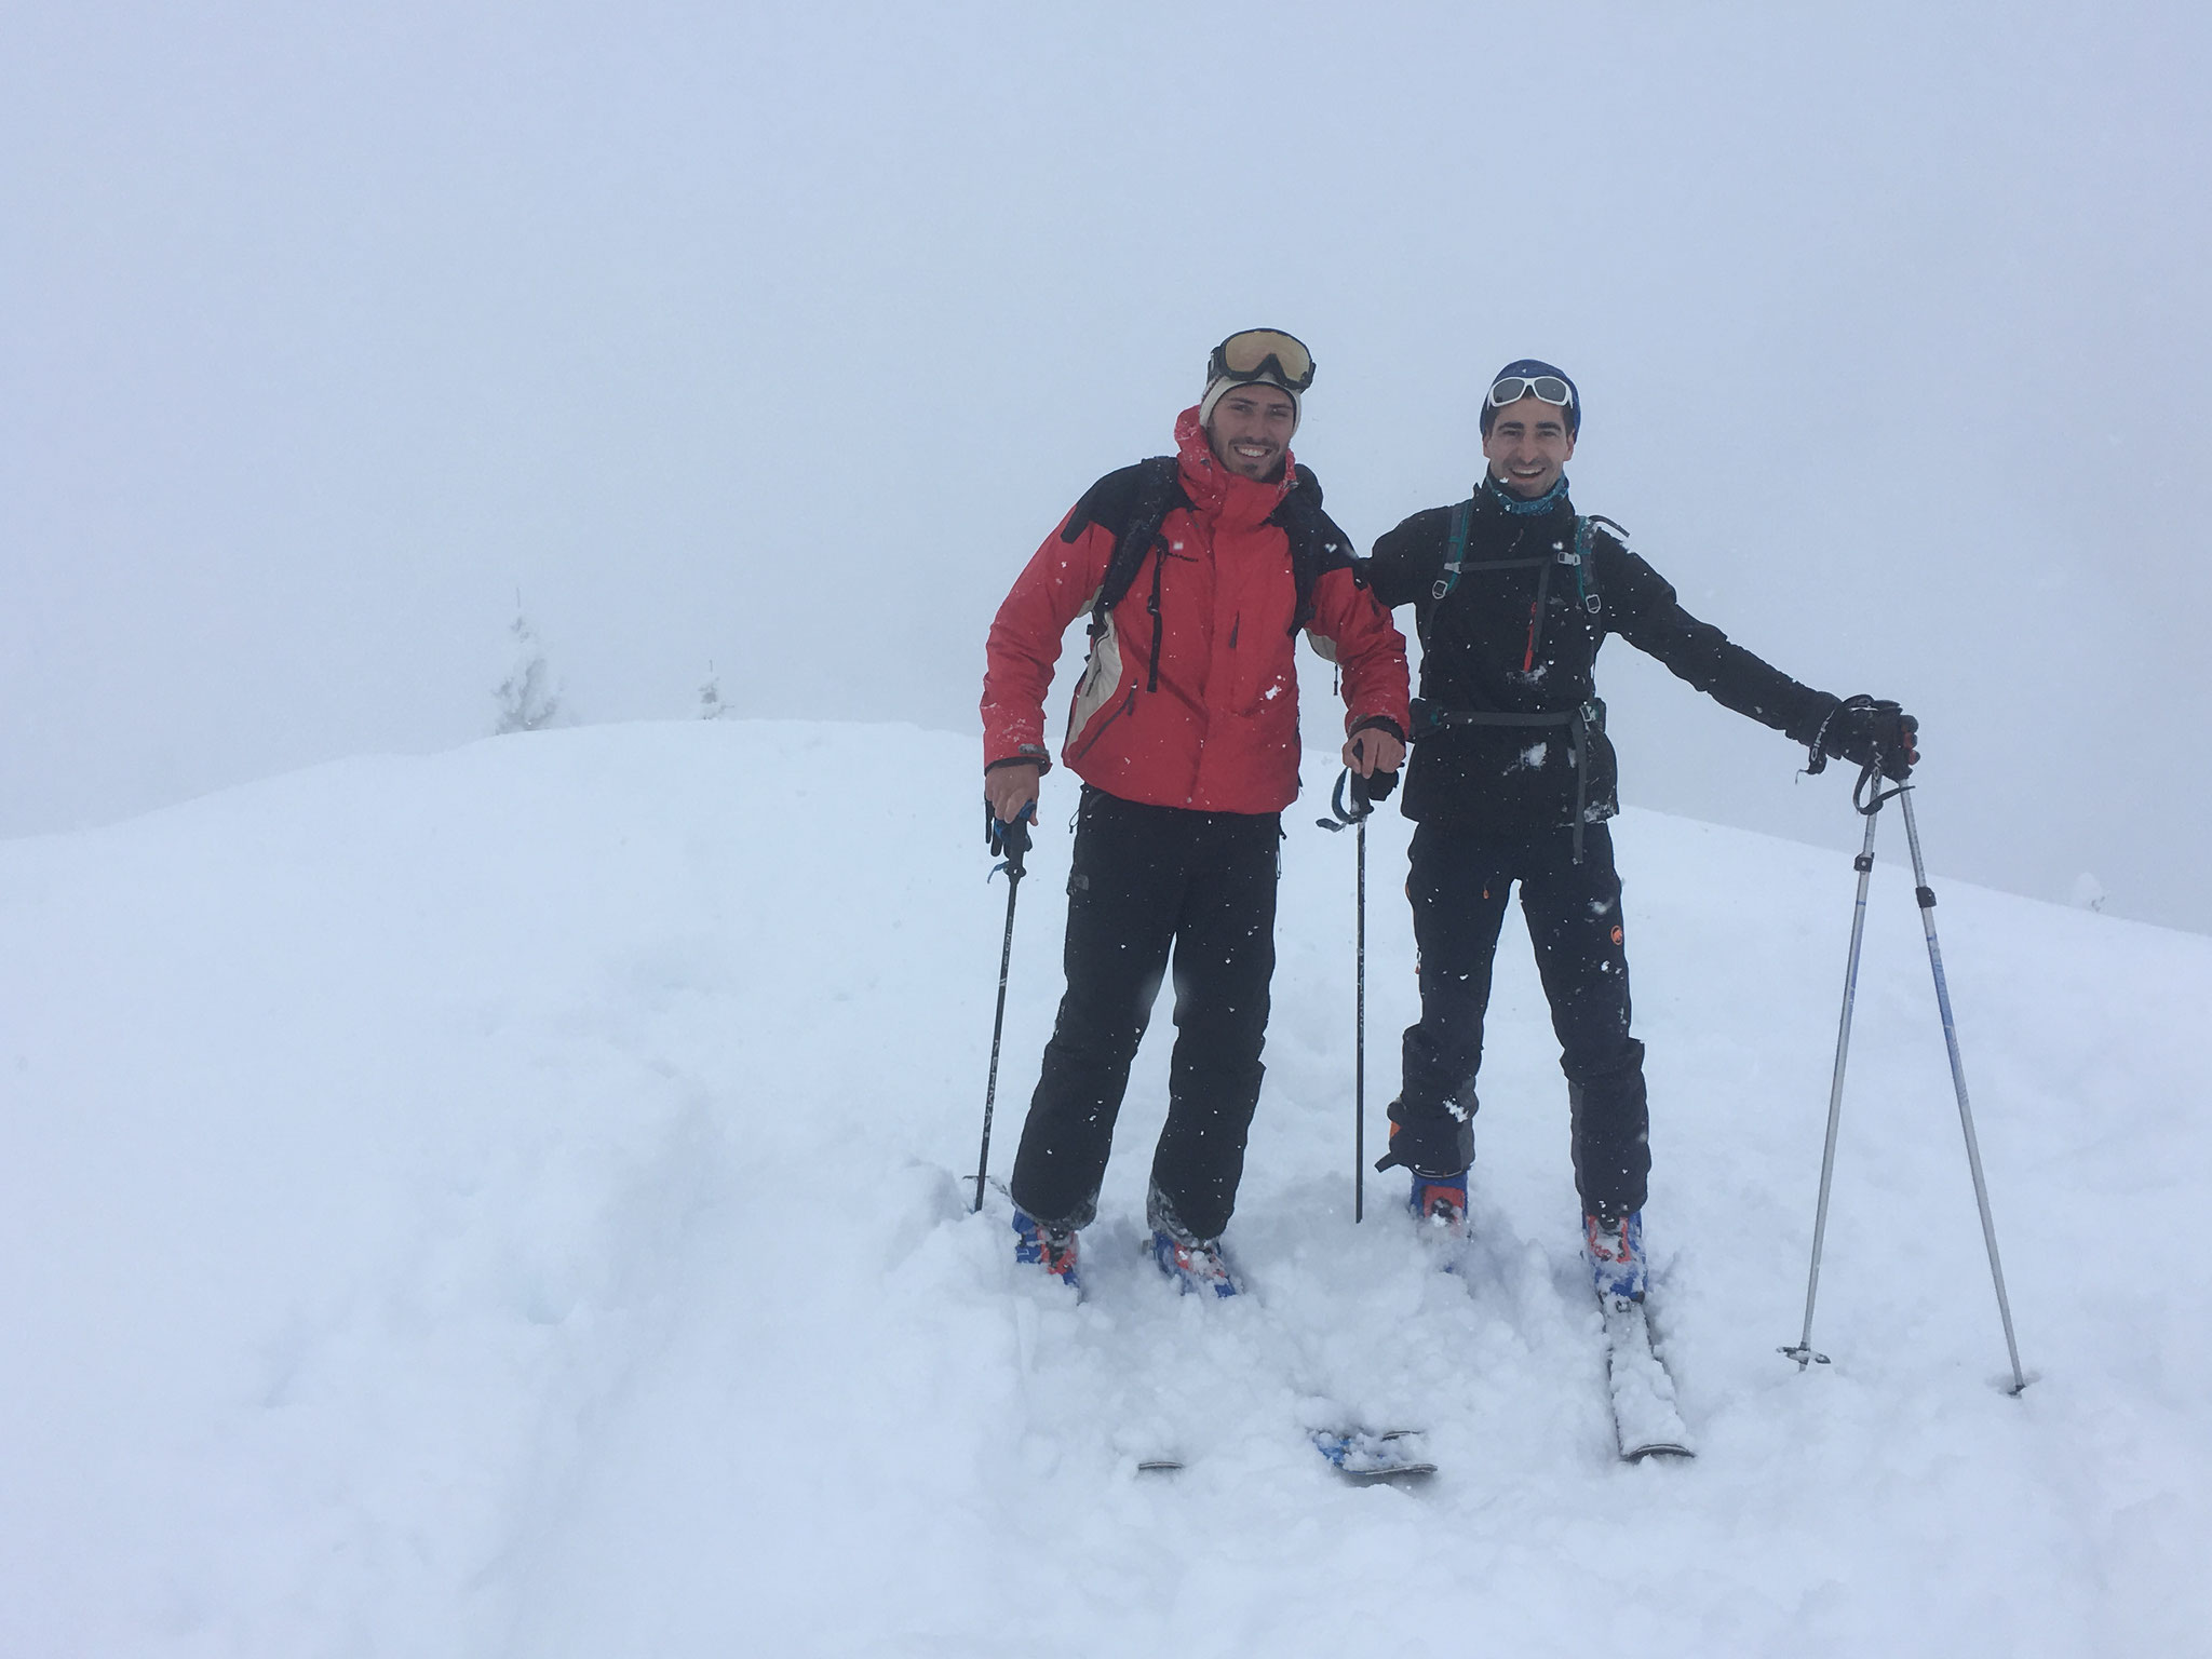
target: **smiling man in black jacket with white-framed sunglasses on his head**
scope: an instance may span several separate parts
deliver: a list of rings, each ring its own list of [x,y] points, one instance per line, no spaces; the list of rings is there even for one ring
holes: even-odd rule
[[[1628,1035],[1621,880],[1606,821],[1619,812],[1593,668],[1608,633],[1739,714],[1816,754],[1902,779],[1916,721],[1849,703],[1767,666],[1699,622],[1628,551],[1582,518],[1566,462],[1582,396],[1548,363],[1498,372],[1482,405],[1486,469],[1473,498],[1431,507],[1376,542],[1367,582],[1413,606],[1422,641],[1405,816],[1416,821],[1407,896],[1420,945],[1420,1024],[1378,1168],[1413,1175],[1413,1210],[1464,1230],[1475,1071],[1491,962],[1513,883],[1551,1002],[1573,1115],[1575,1190],[1601,1294],[1644,1296],[1650,1175],[1644,1044]]]

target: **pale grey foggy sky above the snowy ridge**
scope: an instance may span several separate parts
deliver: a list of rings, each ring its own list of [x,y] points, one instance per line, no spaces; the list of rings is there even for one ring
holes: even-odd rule
[[[1798,11],[9,7],[0,834],[478,737],[518,593],[582,719],[712,661],[975,730],[1022,560],[1267,323],[1363,544],[1551,358],[1584,511],[1922,719],[1938,874],[2212,929],[2212,24]],[[1624,801],[1856,845],[1599,688]]]

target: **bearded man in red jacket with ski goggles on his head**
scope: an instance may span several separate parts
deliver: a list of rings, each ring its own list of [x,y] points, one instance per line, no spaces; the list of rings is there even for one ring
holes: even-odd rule
[[[1354,580],[1352,542],[1290,453],[1307,349],[1279,330],[1214,347],[1172,458],[1108,473],[1044,538],[991,624],[984,796],[1035,816],[1044,695],[1066,626],[1091,657],[1060,759],[1084,781],[1068,869],[1068,989],[1013,1164],[1015,1259],[1075,1283],[1113,1121],[1175,964],[1152,1254],[1181,1290],[1237,1292],[1221,1232],[1259,1104],[1281,814],[1298,796],[1303,628],[1343,670],[1345,765],[1405,759],[1405,639]],[[1119,549],[1119,557],[1117,557]]]

